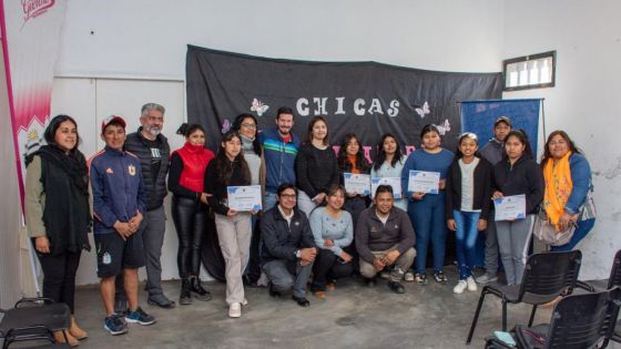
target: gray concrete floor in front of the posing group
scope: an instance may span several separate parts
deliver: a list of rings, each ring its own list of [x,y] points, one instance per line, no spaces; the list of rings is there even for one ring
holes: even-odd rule
[[[488,297],[470,347],[465,345],[479,291],[454,295],[449,285],[405,283],[396,295],[381,280],[375,288],[350,278],[337,284],[326,299],[309,295],[309,308],[288,296],[272,298],[265,288],[246,288],[250,305],[240,319],[227,316],[224,284],[205,283],[213,295],[206,302],[160,309],[141,305],[157,318],[150,327],[130,325],[130,332],[110,336],[103,329],[103,306],[96,287],[78,290],[75,315],[89,331],[85,348],[482,348],[483,338],[501,327],[500,300]],[[179,297],[179,283],[164,283],[166,295]],[[528,321],[530,307],[509,306],[509,327]],[[549,321],[550,309],[538,310],[536,322]]]

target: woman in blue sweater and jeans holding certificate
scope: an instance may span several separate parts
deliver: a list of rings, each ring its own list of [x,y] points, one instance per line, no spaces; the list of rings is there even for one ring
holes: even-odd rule
[[[440,131],[428,124],[420,131],[423,147],[411,153],[401,172],[401,187],[408,198],[408,215],[416,233],[415,275],[406,273],[405,279],[427,285],[425,271],[427,247],[431,240],[434,253],[434,279],[446,284],[444,274],[446,217],[445,186],[448,167],[454,154],[440,146]]]

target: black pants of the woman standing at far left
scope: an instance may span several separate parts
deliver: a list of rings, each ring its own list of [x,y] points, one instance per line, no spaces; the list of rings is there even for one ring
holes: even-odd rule
[[[43,269],[43,297],[64,302],[73,314],[75,273],[82,252],[64,252],[60,255],[37,254]]]

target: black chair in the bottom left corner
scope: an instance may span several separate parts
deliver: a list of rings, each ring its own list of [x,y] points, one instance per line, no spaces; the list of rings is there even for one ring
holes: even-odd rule
[[[4,347],[10,333],[12,341],[19,341],[40,335],[41,327],[52,332],[63,331],[68,342],[64,331],[71,326],[71,310],[65,304],[53,302],[50,298],[23,298],[16,302],[12,309],[0,311],[3,314],[0,320],[0,338],[4,338]],[[31,330],[28,330],[29,328]]]

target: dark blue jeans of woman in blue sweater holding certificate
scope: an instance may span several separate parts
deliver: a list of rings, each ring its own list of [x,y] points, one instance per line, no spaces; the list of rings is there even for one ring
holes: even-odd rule
[[[434,270],[442,271],[447,236],[444,192],[427,194],[421,201],[409,201],[408,215],[416,233],[415,271],[425,274],[429,240],[434,253]]]

